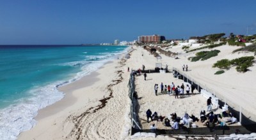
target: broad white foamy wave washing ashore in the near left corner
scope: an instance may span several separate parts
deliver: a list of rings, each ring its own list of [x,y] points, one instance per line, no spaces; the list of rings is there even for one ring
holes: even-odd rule
[[[35,126],[34,117],[39,109],[45,108],[60,101],[63,93],[58,91],[56,85],[60,82],[45,87],[34,88],[29,91],[31,97],[19,99],[19,104],[12,104],[0,110],[0,137],[1,139],[17,139],[20,132]]]

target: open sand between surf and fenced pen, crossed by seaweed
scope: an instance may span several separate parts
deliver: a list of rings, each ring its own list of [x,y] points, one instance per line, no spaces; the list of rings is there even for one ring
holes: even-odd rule
[[[19,139],[121,139],[130,128],[128,73],[115,60],[61,87],[65,98],[40,110],[33,129]],[[125,69],[126,70],[126,69]],[[119,83],[122,81],[121,83]],[[111,93],[112,92],[112,93]],[[100,102],[100,99],[102,102]]]

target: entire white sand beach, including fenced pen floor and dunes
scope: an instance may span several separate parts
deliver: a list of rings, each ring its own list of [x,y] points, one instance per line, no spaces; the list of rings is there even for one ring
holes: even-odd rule
[[[256,66],[249,67],[250,71],[246,73],[238,73],[232,67],[221,75],[214,75],[218,69],[212,68],[217,60],[234,59],[253,53],[232,54],[239,47],[225,45],[214,48],[221,51],[219,55],[205,61],[190,62],[188,57],[195,53],[184,53],[179,55],[180,59],[161,55],[162,59],[157,61],[142,47],[132,47],[134,51],[131,52],[131,58],[109,62],[81,80],[61,87],[60,90],[65,93],[64,99],[42,109],[36,116],[36,126],[22,132],[19,139],[129,139],[131,100],[127,88],[127,67],[130,70],[141,69],[143,64],[146,69],[154,69],[156,62],[161,62],[163,67],[167,64],[168,69],[177,67],[180,70],[183,64],[188,64],[189,71],[185,73],[191,78],[216,91],[216,95],[226,97],[231,105],[239,104],[256,116],[256,87],[253,86]],[[143,76],[136,77],[136,91],[138,97],[141,97],[141,119],[147,119],[145,112],[148,108],[163,116],[173,112],[183,116],[185,111],[189,115],[193,113],[198,116],[201,109],[206,109],[207,99],[200,94],[182,99],[175,99],[173,95],[154,95],[155,83],[183,83],[173,78],[172,73],[150,73],[147,79],[145,81]],[[142,125],[146,128],[148,126],[145,122]]]

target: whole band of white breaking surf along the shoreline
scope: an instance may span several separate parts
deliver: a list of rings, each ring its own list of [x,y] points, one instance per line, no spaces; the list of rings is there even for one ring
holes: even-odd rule
[[[93,71],[97,71],[106,62],[116,59],[122,53],[127,53],[130,48],[106,55],[86,56],[86,59],[75,62],[67,62],[65,66],[81,66],[81,71],[68,81],[56,81],[44,87],[34,87],[29,90],[29,97],[20,99],[17,103],[0,109],[0,137],[1,139],[17,139],[20,132],[31,129],[36,125],[34,119],[39,109],[45,108],[54,102],[60,101],[64,94],[58,91],[58,87],[67,85],[81,79]]]

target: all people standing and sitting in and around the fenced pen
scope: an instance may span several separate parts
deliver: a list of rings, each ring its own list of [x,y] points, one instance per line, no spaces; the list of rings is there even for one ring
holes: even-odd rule
[[[166,69],[167,66],[166,66]],[[188,65],[183,65],[182,66],[183,71],[188,71]],[[142,66],[142,71],[145,70],[145,66]],[[128,67],[129,71],[129,67]],[[138,70],[132,70],[133,74],[140,75],[141,74],[141,69]],[[147,74],[144,73],[144,80],[147,78]],[[160,92],[158,92],[158,88],[160,88]],[[155,84],[154,85],[154,93],[155,95],[157,94],[168,94],[168,95],[175,95],[175,99],[179,99],[179,96],[182,97],[185,94],[190,95],[194,94],[195,86],[192,84],[191,86],[189,85],[178,85],[177,87],[175,84],[172,82],[170,84],[164,84],[161,82],[161,84]],[[213,128],[217,125],[224,126],[227,124],[232,124],[232,123],[237,123],[237,118],[232,115],[229,111],[223,111],[221,114],[214,114],[212,111],[212,102],[211,102],[211,97],[207,99],[207,111],[209,113],[206,114],[205,110],[200,111],[200,116],[197,118],[193,114],[191,116],[188,115],[188,113],[184,113],[182,117],[177,116],[176,113],[172,113],[168,115],[167,117],[165,116],[159,116],[157,112],[155,111],[152,113],[150,109],[147,110],[146,115],[147,115],[147,122],[151,120],[151,122],[157,121],[157,122],[163,122],[163,125],[166,127],[170,127],[172,129],[180,129],[181,127],[195,127],[195,123],[193,122],[200,122],[202,125],[205,125],[209,127],[210,130],[213,130]],[[222,119],[222,118],[226,119]],[[193,124],[193,125],[192,125]],[[152,123],[150,125],[150,129],[156,130],[157,126],[155,123]]]

